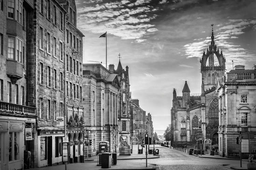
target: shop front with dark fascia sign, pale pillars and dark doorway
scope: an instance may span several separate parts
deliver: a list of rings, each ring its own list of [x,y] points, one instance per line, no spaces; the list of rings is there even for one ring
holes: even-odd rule
[[[60,128],[38,128],[38,165],[39,167],[63,164],[62,137],[65,130]]]

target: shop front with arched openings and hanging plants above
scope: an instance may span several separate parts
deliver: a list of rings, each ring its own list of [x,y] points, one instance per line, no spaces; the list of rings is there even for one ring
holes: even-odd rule
[[[84,162],[84,127],[68,127],[69,163]]]

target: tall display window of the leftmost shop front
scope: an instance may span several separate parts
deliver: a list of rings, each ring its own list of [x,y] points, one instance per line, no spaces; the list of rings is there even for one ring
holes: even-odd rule
[[[9,162],[19,160],[19,132],[9,132]]]

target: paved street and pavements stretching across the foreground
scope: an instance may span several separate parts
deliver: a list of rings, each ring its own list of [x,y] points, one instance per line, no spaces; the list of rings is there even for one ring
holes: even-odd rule
[[[153,145],[150,145],[153,149]],[[240,168],[239,159],[231,159],[221,157],[219,155],[188,155],[187,152],[173,150],[167,147],[155,145],[155,149],[159,149],[159,155],[148,154],[147,167],[145,148],[143,154],[138,154],[138,145],[133,145],[133,153],[129,155],[117,154],[117,165],[112,165],[110,170],[180,170],[180,169],[207,169],[207,170],[230,170],[230,169],[246,169],[247,160],[242,160],[242,168]],[[187,149],[186,149],[187,151]],[[93,156],[88,158],[90,161],[85,163],[67,164],[67,170],[103,170],[101,166],[97,166],[98,158]],[[85,158],[87,160],[87,158]],[[49,166],[43,168],[33,168],[31,170],[65,170],[65,165]]]

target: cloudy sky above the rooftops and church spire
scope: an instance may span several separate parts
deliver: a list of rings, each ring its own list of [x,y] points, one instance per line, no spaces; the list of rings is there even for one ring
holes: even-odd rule
[[[201,92],[200,57],[214,40],[233,65],[256,64],[255,0],[75,0],[85,35],[83,63],[129,67],[130,91],[162,135],[171,123],[173,88]],[[217,64],[217,63],[216,63]]]

